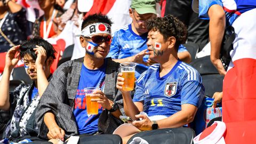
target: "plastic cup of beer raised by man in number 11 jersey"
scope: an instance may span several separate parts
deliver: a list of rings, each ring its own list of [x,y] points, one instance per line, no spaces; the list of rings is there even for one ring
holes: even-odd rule
[[[132,91],[134,89],[136,63],[123,62],[120,66],[121,72],[123,73],[122,77],[124,78],[123,90]]]

